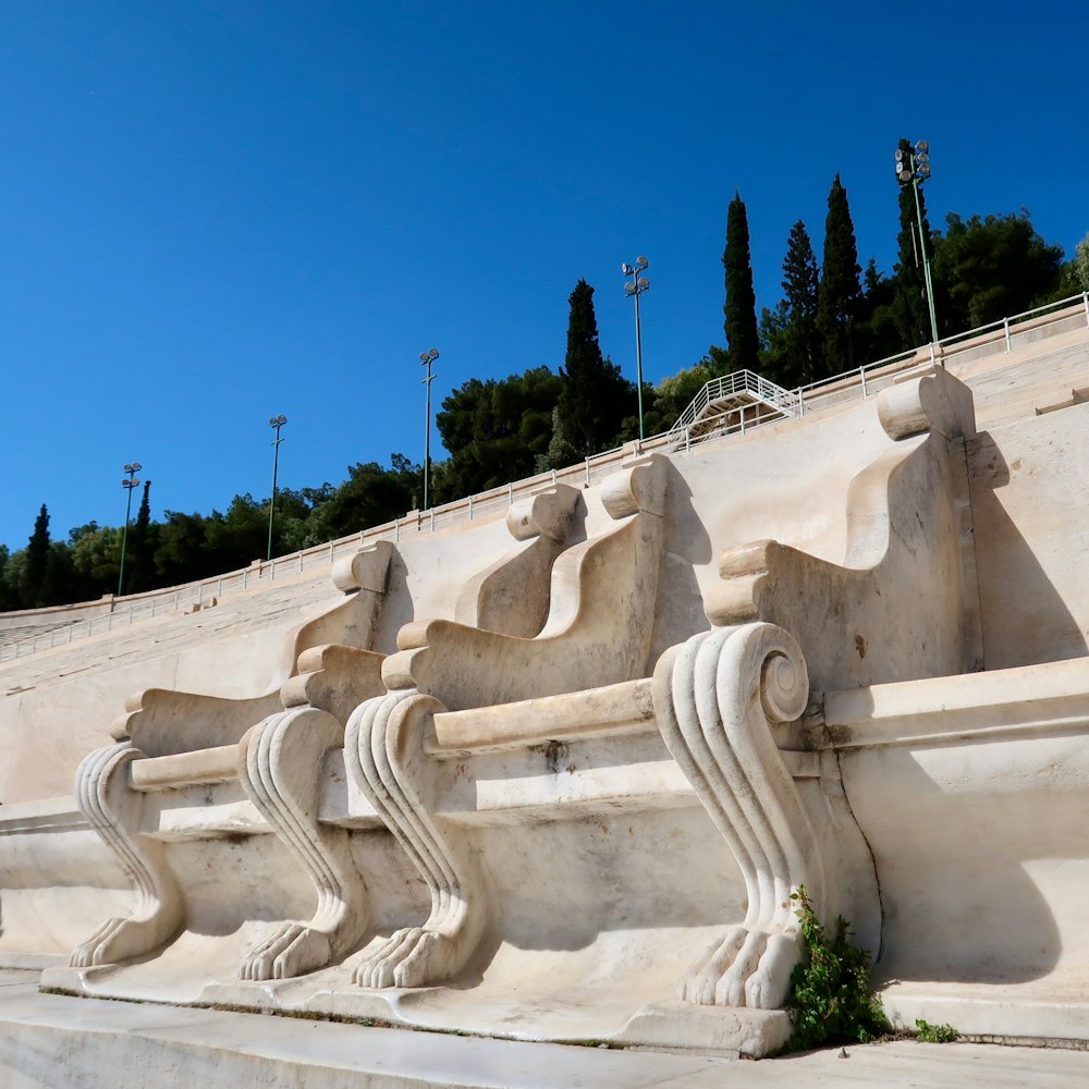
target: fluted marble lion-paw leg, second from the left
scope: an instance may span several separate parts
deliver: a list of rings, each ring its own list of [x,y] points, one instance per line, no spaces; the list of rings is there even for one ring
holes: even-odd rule
[[[305,707],[267,718],[243,741],[238,778],[261,816],[302,864],[317,892],[309,922],[285,922],[243,960],[243,979],[285,979],[354,949],[367,926],[367,895],[348,833],[318,822],[320,769],[343,742],[327,711]]]

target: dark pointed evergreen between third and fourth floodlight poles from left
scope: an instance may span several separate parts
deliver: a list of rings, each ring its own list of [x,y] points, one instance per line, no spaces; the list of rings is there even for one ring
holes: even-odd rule
[[[594,313],[594,289],[579,280],[567,299],[567,354],[560,377],[563,388],[556,405],[556,427],[564,445],[550,446],[549,467],[570,464],[576,457],[588,457],[608,449],[617,438],[625,416],[635,411],[635,386],[627,381],[612,360],[601,355],[598,344],[598,319]],[[561,460],[560,464],[555,458]]]

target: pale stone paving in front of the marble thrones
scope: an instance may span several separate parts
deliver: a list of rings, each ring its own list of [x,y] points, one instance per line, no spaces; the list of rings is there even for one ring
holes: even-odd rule
[[[479,1040],[154,1003],[40,994],[0,977],[4,1089],[1075,1089],[1089,1052],[871,1044],[747,1062]]]

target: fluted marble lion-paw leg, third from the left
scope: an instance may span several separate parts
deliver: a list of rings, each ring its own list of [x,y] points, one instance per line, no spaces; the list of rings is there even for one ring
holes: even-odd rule
[[[415,689],[363,703],[348,720],[345,764],[427,882],[431,913],[421,927],[374,942],[355,970],[363,987],[423,987],[455,975],[476,950],[485,896],[464,836],[433,813],[425,719],[442,703]]]

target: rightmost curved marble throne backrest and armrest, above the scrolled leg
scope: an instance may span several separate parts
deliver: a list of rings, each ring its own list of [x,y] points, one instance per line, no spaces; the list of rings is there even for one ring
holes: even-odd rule
[[[930,371],[882,391],[878,414],[897,444],[851,484],[842,563],[756,541],[722,553],[706,596],[715,625],[762,620],[791,632],[819,690],[978,668],[970,393]]]

